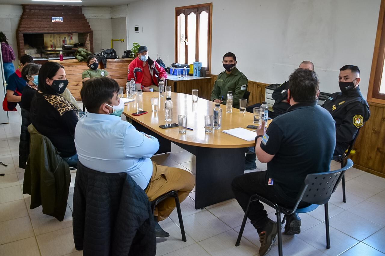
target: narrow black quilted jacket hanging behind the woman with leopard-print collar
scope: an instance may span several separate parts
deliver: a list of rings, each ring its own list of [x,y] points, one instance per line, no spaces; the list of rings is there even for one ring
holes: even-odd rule
[[[29,155],[29,133],[28,125],[31,124],[29,111],[22,108],[22,127],[19,142],[19,167],[25,169]]]

